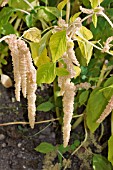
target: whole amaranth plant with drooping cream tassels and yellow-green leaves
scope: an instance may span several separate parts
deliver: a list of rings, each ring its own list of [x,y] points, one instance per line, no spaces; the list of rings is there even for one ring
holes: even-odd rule
[[[5,40],[11,51],[15,96],[20,101],[20,90],[22,88],[23,96],[28,99],[28,117],[33,128],[37,84],[53,83],[54,85],[54,81],[57,80],[59,93],[54,91],[54,96],[55,101],[59,96],[62,96],[63,143],[66,147],[70,139],[73,112],[76,112],[74,103],[80,89],[86,90],[80,95],[80,99],[85,96],[84,101],[79,100],[79,103],[86,105],[82,117],[84,118],[85,115],[84,121],[91,132],[98,128],[99,124],[113,109],[113,77],[107,77],[112,67],[107,63],[110,59],[105,59],[105,55],[108,55],[112,60],[111,42],[113,36],[111,34],[102,41],[93,35],[93,30],[98,28],[98,20],[103,21],[104,19],[110,29],[113,29],[113,23],[105,14],[104,7],[100,6],[104,3],[104,0],[89,0],[90,8],[80,6],[79,12],[72,16],[70,14],[70,0],[61,1],[57,7],[40,6],[39,1],[29,3],[29,1],[23,0],[23,2],[27,3],[29,8],[26,7],[25,9],[28,10],[18,9],[13,3],[12,5],[10,1],[7,1],[9,6],[12,5],[8,12],[11,14],[16,11],[24,13],[24,20],[29,29],[24,31],[20,37],[16,36],[13,30],[13,33],[11,32],[11,34],[0,39],[1,42]],[[66,12],[63,10],[65,7]],[[7,20],[9,20],[9,17]],[[40,21],[43,31],[36,27],[37,20]],[[53,20],[56,22],[52,22]],[[11,22],[12,20],[10,20]],[[91,25],[92,31],[86,27],[88,23],[93,23]],[[93,50],[96,50],[96,52]],[[99,55],[103,55],[103,66],[99,78],[94,82],[94,79],[91,81],[86,79],[88,82],[85,82],[85,78],[77,81],[84,66],[88,67],[92,58],[97,57],[97,51],[100,51]],[[111,127],[113,129],[112,123]],[[112,141],[113,130],[109,139],[109,160],[113,164],[113,160],[111,160],[111,155],[113,155],[111,153]]]

